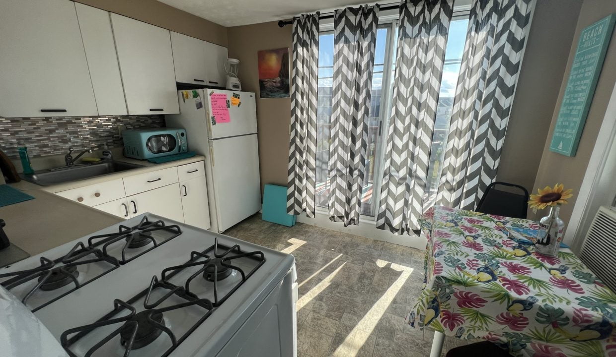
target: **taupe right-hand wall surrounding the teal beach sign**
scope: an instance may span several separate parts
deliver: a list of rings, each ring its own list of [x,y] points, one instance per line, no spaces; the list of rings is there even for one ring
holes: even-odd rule
[[[546,185],[553,186],[556,182],[562,182],[565,188],[573,189],[573,194],[577,194],[580,190],[586,166],[588,165],[588,160],[594,148],[594,141],[597,138],[599,128],[603,122],[607,103],[609,102],[614,83],[616,82],[616,32],[612,34],[612,40],[607,49],[606,59],[603,63],[590,111],[588,111],[588,117],[586,118],[586,124],[582,131],[582,138],[580,138],[577,154],[575,157],[556,154],[556,152],[549,151],[549,144],[561,106],[562,95],[567,85],[567,79],[580,31],[601,18],[614,13],[616,13],[616,1],[614,0],[585,0],[582,4],[577,28],[575,29],[575,37],[573,38],[573,44],[569,51],[567,69],[562,79],[558,101],[554,107],[549,133],[545,139],[543,155],[538,168],[537,178],[535,179],[535,187],[545,187]],[[573,197],[569,200],[569,204],[564,205],[561,209],[561,217],[565,222],[568,222],[571,217],[575,198],[576,197]],[[543,215],[545,215],[545,211],[539,211],[535,217]]]

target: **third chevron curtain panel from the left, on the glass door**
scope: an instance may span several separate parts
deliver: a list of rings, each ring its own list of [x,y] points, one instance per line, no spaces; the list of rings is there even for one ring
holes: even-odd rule
[[[392,116],[376,227],[392,233],[418,229],[428,179],[453,0],[400,4]]]

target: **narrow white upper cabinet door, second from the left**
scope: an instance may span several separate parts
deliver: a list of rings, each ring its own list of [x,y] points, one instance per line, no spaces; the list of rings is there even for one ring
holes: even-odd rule
[[[126,101],[109,12],[79,2],[75,2],[75,8],[99,115],[125,116]]]

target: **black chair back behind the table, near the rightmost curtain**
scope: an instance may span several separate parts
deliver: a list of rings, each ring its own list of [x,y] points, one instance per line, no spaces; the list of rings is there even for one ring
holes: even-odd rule
[[[496,185],[514,187],[521,193],[497,190]],[[529,192],[524,187],[507,182],[492,182],[485,189],[484,197],[479,201],[476,211],[505,217],[526,218],[528,208]]]

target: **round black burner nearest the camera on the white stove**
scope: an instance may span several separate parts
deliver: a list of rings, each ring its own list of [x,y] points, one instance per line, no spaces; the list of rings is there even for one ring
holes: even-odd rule
[[[154,342],[163,330],[152,323],[149,317],[152,316],[152,320],[160,323],[164,326],[163,313],[152,312],[151,310],[145,310],[133,315],[120,330],[120,343],[124,347],[128,348],[128,344],[131,341],[132,334],[135,334],[135,339],[132,342],[131,350],[137,350],[138,348],[145,347]]]

